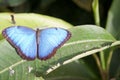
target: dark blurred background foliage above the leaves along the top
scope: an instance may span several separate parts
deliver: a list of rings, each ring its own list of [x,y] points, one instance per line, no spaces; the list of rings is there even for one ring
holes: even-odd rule
[[[102,26],[105,26],[111,1],[100,0]],[[46,14],[73,25],[94,24],[91,3],[92,0],[0,0],[0,11]]]

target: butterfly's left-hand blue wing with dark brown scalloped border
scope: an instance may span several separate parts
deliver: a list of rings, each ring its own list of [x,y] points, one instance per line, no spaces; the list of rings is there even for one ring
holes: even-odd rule
[[[23,59],[36,58],[36,31],[23,26],[12,26],[4,29],[2,34]]]

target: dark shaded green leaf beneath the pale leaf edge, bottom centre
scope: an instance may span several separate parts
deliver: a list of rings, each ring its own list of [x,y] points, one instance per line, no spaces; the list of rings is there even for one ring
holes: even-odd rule
[[[71,62],[51,72],[47,80],[99,80],[84,60]]]

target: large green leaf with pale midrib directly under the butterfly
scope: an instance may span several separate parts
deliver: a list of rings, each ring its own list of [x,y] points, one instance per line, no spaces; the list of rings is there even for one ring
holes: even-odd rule
[[[98,26],[76,26],[69,28],[69,31],[72,33],[70,40],[58,49],[54,57],[46,61],[38,59],[34,61],[24,61],[17,55],[14,48],[11,47],[6,40],[1,40],[0,79],[34,80],[36,77],[46,77],[46,74],[61,65],[108,49],[111,46],[119,45],[115,45],[115,43],[113,43],[115,39],[107,31]],[[11,74],[11,71],[14,73]]]

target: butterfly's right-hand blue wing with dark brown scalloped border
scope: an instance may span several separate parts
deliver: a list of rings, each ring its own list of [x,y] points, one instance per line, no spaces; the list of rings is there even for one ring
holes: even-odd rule
[[[37,57],[41,60],[51,58],[56,50],[71,36],[71,33],[62,28],[47,28],[40,31]]]

